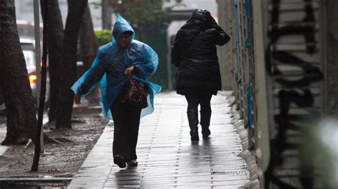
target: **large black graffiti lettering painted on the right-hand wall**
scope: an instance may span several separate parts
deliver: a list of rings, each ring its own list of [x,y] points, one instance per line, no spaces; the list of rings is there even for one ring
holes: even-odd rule
[[[322,80],[323,75],[319,69],[319,63],[309,62],[304,56],[318,56],[319,45],[316,34],[319,32],[316,28],[316,16],[314,10],[314,1],[304,0],[302,5],[304,9],[297,10],[299,15],[304,15],[299,20],[285,21],[285,15],[291,11],[281,9],[280,0],[272,0],[272,9],[270,10],[270,29],[268,31],[269,44],[266,52],[266,68],[272,78],[273,89],[277,90],[277,103],[274,104],[277,111],[274,114],[276,135],[272,137],[270,163],[265,172],[265,186],[275,185],[278,188],[312,188],[314,180],[312,178],[314,168],[304,168],[299,165],[298,176],[295,174],[283,175],[276,174],[277,169],[283,168],[285,163],[285,151],[299,149],[299,143],[288,139],[288,131],[299,131],[302,133],[302,121],[313,117],[314,112],[311,109],[315,107],[315,95],[312,87],[316,82]],[[295,10],[292,10],[295,11]],[[284,20],[282,20],[282,15]],[[292,48],[277,48],[277,45],[286,38],[302,38],[302,50]],[[299,45],[299,44],[297,44]],[[296,52],[297,51],[297,52]],[[299,53],[301,51],[302,53]],[[298,72],[290,72],[293,70]],[[276,106],[278,104],[278,106]],[[297,114],[295,112],[302,110],[307,114]],[[307,174],[302,174],[307,171]],[[304,176],[307,175],[307,176]],[[289,177],[288,179],[285,179]]]

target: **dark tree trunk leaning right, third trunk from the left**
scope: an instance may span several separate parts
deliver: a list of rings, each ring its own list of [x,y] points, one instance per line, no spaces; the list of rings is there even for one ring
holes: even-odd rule
[[[61,87],[58,95],[56,128],[71,128],[73,111],[73,91],[71,85],[76,80],[76,48],[83,12],[88,0],[68,0],[68,16],[63,36]]]

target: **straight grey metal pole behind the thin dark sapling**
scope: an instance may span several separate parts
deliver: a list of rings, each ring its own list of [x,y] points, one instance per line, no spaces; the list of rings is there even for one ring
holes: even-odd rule
[[[40,83],[41,83],[41,47],[40,47],[40,10],[39,10],[39,0],[34,0],[34,36],[35,36],[35,61],[36,61],[36,107],[39,107],[39,97],[40,97]],[[41,153],[43,153],[43,129],[41,129]]]

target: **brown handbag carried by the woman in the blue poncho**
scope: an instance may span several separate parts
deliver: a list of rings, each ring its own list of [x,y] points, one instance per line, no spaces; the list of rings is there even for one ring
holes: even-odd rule
[[[141,109],[148,107],[148,86],[138,80],[128,80],[125,87],[123,102]]]

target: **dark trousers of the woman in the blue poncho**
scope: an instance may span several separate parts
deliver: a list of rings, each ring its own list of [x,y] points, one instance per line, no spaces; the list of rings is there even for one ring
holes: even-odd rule
[[[123,156],[126,161],[137,159],[136,144],[140,126],[141,109],[133,107],[118,99],[111,105],[114,120],[113,156]]]

